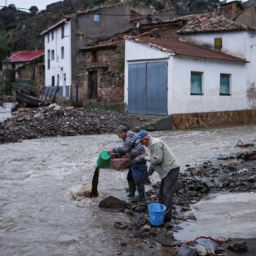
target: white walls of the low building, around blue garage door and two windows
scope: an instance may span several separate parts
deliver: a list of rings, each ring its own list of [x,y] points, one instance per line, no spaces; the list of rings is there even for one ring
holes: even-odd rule
[[[256,49],[255,49],[256,50]],[[128,103],[128,64],[168,61],[167,114],[203,113],[250,108],[246,98],[251,64],[173,56],[148,45],[126,40],[124,102]],[[203,95],[190,95],[191,71],[203,72]],[[230,96],[219,95],[220,74],[230,74]],[[255,83],[256,84],[256,83]]]

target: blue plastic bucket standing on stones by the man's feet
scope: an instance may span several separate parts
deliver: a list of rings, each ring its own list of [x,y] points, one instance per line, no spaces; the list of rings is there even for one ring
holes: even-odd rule
[[[149,221],[151,225],[159,226],[164,224],[166,206],[162,203],[151,203],[148,206]]]

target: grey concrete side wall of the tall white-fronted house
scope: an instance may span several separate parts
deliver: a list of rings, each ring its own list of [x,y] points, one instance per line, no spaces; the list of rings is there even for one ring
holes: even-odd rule
[[[94,21],[94,14],[97,13],[101,14],[99,23]],[[81,12],[75,18],[72,18],[73,79],[83,72],[83,59],[80,48],[132,29],[129,15],[129,4],[124,3],[113,7],[102,8],[95,12]]]

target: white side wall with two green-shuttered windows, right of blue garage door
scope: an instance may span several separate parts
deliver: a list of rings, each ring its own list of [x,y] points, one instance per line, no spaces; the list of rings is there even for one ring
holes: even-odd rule
[[[168,113],[202,113],[244,110],[246,101],[246,65],[173,57],[172,95]],[[191,71],[203,72],[203,95],[190,95]],[[220,74],[230,74],[230,94],[219,95]]]

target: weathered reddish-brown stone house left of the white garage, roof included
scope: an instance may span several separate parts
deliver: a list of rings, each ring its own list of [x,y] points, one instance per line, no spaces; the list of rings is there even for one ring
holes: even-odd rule
[[[80,48],[85,72],[79,81],[78,101],[86,105],[95,100],[124,110],[124,36],[178,38],[178,29],[181,29],[180,23],[158,20]]]

